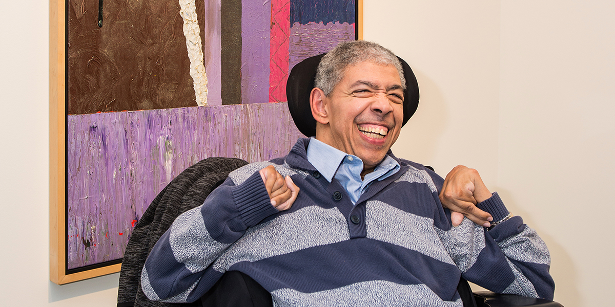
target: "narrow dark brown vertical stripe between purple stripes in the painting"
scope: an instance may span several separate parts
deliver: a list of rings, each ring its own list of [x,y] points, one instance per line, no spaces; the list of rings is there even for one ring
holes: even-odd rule
[[[241,0],[220,6],[222,104],[241,103]]]

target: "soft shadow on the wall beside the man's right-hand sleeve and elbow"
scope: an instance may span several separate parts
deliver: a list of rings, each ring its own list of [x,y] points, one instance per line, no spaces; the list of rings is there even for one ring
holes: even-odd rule
[[[532,218],[531,212],[517,206],[517,201],[515,201],[514,196],[512,196],[509,190],[502,187],[496,188],[494,190],[498,191],[509,211],[523,217],[523,222],[536,230],[538,235],[547,244],[547,247],[549,247],[549,254],[551,255],[550,273],[555,281],[554,300],[564,306],[581,306],[581,292],[579,292],[577,286],[579,284],[579,274],[577,274],[577,269],[568,252],[560,244],[557,244],[557,241],[552,236],[547,235],[548,232],[543,231],[544,228],[541,229],[541,223]]]

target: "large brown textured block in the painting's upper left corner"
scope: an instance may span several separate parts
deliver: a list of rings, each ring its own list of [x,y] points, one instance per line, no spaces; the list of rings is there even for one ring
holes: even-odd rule
[[[98,28],[98,1],[69,0],[68,113],[196,106],[179,12],[178,1],[105,0]]]

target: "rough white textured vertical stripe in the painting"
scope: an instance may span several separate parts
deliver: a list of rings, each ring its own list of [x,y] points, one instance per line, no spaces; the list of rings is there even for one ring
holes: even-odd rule
[[[190,59],[190,76],[194,80],[194,93],[199,106],[207,106],[207,73],[203,64],[203,47],[200,41],[195,0],[180,0],[180,15],[184,20],[184,36]]]

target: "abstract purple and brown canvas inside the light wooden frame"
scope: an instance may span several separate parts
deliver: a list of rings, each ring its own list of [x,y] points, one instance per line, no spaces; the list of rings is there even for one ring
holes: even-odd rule
[[[65,2],[67,275],[121,262],[197,161],[285,155],[290,69],[358,37],[354,0],[96,2]]]

